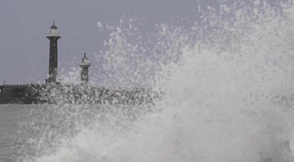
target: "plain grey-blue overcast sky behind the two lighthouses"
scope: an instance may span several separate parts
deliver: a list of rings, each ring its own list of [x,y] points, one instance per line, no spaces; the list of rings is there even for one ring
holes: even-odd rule
[[[218,1],[199,3],[205,7]],[[0,82],[45,82],[49,64],[46,32],[53,19],[61,32],[60,75],[63,68],[79,68],[78,62],[72,62],[75,57],[79,61],[87,52],[89,59],[94,59],[93,52],[101,50],[107,34],[99,31],[98,21],[119,22],[123,15],[136,15],[148,19],[146,28],[152,28],[156,23],[172,23],[176,15],[195,14],[197,8],[197,0],[1,0]],[[91,66],[90,70],[95,69]]]

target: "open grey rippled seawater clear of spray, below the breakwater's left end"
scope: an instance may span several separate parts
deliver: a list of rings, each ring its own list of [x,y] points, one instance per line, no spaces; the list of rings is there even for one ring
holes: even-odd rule
[[[46,115],[46,108],[47,106],[44,105],[0,105],[1,162],[16,161],[21,156],[22,153],[19,151],[27,143],[28,134],[34,132],[30,127],[21,125],[21,123],[32,117],[43,118]]]

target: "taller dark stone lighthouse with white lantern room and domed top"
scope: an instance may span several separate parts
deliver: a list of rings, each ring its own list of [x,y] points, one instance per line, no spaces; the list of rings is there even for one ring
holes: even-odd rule
[[[46,79],[46,84],[60,84],[60,80],[57,78],[57,40],[61,38],[58,28],[54,24],[50,27],[50,31],[47,32],[47,37],[50,40],[49,49],[49,78]]]

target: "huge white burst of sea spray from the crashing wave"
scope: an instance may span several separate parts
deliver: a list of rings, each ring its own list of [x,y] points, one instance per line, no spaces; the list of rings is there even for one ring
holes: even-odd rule
[[[293,92],[294,8],[279,7],[209,7],[191,27],[158,24],[154,44],[134,21],[106,26],[104,82],[151,85],[160,100],[54,105],[56,127],[39,129],[27,161],[293,161],[281,103]]]

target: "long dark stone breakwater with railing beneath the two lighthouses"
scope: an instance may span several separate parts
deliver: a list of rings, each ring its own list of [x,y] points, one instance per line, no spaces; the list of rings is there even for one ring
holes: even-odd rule
[[[0,86],[0,104],[145,104],[153,103],[151,89],[111,89],[85,85]]]

